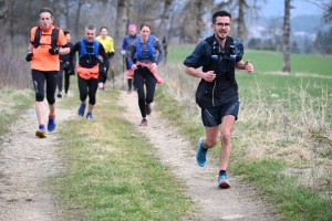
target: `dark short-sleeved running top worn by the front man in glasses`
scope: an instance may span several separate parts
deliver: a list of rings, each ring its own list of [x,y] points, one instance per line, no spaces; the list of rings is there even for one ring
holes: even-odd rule
[[[195,51],[185,60],[186,66],[203,71],[215,71],[216,78],[212,82],[201,80],[196,91],[196,103],[201,108],[219,106],[239,98],[238,84],[235,78],[235,64],[242,59],[242,54],[234,55],[231,46],[232,38],[227,38],[226,45],[219,50],[219,43],[215,36],[201,41]],[[217,51],[214,50],[217,48]],[[214,59],[215,57],[215,59]]]

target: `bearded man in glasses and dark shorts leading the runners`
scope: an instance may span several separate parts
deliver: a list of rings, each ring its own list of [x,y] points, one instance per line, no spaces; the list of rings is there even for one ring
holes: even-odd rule
[[[238,84],[235,67],[253,72],[252,64],[242,61],[243,46],[239,39],[228,36],[231,14],[217,11],[212,15],[214,35],[201,41],[185,60],[185,72],[201,78],[196,103],[201,108],[201,120],[206,136],[198,141],[197,164],[204,167],[207,151],[218,141],[220,128],[221,151],[218,186],[229,188],[227,167],[231,150],[231,129],[239,112]],[[203,66],[203,70],[197,70]]]

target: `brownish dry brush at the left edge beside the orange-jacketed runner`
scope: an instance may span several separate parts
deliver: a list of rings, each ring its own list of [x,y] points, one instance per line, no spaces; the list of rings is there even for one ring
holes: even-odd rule
[[[30,88],[30,63],[25,62],[27,46],[17,46],[11,42],[0,44],[0,90]]]

